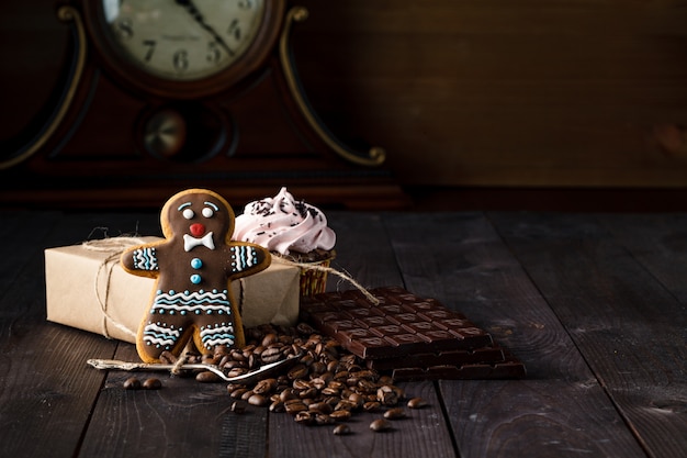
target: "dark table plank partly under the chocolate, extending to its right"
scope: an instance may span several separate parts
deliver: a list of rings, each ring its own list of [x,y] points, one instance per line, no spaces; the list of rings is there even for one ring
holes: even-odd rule
[[[525,380],[440,382],[461,456],[644,456],[484,215],[409,213],[385,224],[408,289],[465,313],[528,368]]]

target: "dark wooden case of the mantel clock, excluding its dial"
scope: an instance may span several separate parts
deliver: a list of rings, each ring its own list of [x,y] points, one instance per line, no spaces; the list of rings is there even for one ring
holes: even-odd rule
[[[2,150],[0,201],[157,208],[179,189],[206,187],[241,205],[286,186],[320,205],[404,206],[385,152],[340,141],[307,100],[290,43],[307,10],[270,2],[259,46],[191,83],[160,83],[114,60],[92,4],[60,5],[70,31],[63,83],[42,125]]]

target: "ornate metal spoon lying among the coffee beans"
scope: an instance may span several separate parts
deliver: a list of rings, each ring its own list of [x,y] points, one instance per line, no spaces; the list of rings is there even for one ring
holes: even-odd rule
[[[301,355],[295,355],[286,359],[279,360],[277,362],[270,362],[269,365],[261,366],[257,370],[254,370],[251,372],[247,372],[240,376],[236,376],[236,377],[227,377],[227,375],[224,373],[222,369],[219,369],[217,366],[214,366],[214,365],[185,364],[185,365],[177,366],[176,368],[180,370],[187,370],[187,369],[209,370],[213,373],[216,373],[219,378],[222,378],[222,380],[225,380],[228,382],[240,381],[244,383],[251,383],[254,381],[259,380],[260,378],[264,376],[270,375],[270,372],[273,372],[277,369],[285,369],[288,367],[291,367],[293,364],[299,361],[300,356]],[[103,369],[103,370],[109,369],[109,370],[128,370],[128,371],[135,371],[135,370],[157,371],[157,370],[171,370],[174,368],[174,365],[149,364],[149,362],[127,362],[127,361],[120,361],[116,359],[89,359],[86,362],[94,367],[95,369]]]

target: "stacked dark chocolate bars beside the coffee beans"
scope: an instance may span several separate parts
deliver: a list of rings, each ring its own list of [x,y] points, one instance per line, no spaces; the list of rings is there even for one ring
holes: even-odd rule
[[[525,367],[468,317],[401,287],[301,298],[301,319],[397,380],[522,377]]]

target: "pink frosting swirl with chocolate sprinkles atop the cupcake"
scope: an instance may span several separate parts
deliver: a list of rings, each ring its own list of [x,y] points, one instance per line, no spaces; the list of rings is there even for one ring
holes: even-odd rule
[[[282,255],[291,250],[331,249],[336,244],[336,234],[327,226],[325,214],[294,200],[286,188],[273,198],[248,203],[244,213],[236,216],[233,238]]]

